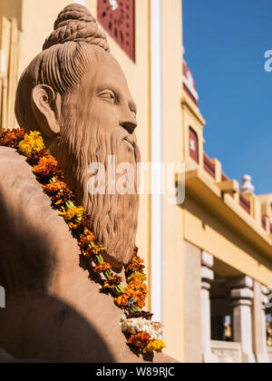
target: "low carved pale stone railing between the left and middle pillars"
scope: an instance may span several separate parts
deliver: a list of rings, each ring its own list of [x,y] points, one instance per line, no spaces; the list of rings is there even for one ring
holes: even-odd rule
[[[242,351],[239,343],[231,343],[228,341],[210,342],[213,360],[218,364],[241,364]]]

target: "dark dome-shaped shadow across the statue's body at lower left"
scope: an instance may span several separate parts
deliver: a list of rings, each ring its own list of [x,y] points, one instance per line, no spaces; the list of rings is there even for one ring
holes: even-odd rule
[[[22,297],[0,309],[0,348],[9,355],[57,363],[115,362],[95,327],[63,301],[44,298],[30,304]]]

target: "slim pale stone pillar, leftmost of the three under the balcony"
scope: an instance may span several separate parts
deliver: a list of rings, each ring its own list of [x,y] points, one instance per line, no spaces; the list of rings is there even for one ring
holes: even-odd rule
[[[212,255],[202,252],[201,268],[201,334],[202,334],[202,354],[204,363],[212,363],[213,356],[210,349],[211,328],[210,328],[210,283],[214,279],[212,271]]]

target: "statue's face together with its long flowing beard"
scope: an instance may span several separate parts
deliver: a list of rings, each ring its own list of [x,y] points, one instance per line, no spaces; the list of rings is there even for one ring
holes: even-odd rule
[[[83,75],[81,82],[65,96],[61,108],[61,131],[49,149],[60,162],[65,179],[76,190],[78,203],[92,215],[93,232],[107,249],[108,260],[119,267],[131,259],[138,224],[137,163],[141,161],[136,140],[136,104],[120,65],[107,54]],[[114,158],[114,165],[109,161]],[[106,194],[92,194],[88,181],[94,173],[88,167],[99,162],[105,169]],[[120,194],[116,187],[129,163],[133,192]],[[109,185],[109,172],[115,172],[115,194]],[[109,188],[110,193],[109,194]],[[131,194],[133,193],[133,194]]]

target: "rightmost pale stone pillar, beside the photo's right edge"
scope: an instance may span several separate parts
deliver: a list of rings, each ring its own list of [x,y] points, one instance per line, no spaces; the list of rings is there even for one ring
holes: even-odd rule
[[[267,288],[254,281],[253,347],[257,363],[269,363],[267,353],[266,307]]]

